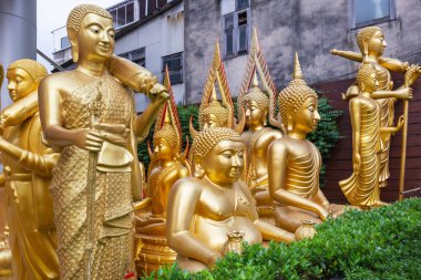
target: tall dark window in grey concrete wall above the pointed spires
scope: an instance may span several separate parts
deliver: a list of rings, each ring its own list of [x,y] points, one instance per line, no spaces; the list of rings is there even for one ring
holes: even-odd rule
[[[228,0],[223,12],[223,42],[225,56],[235,56],[248,51],[250,8],[249,0]],[[230,11],[229,8],[234,8]]]

